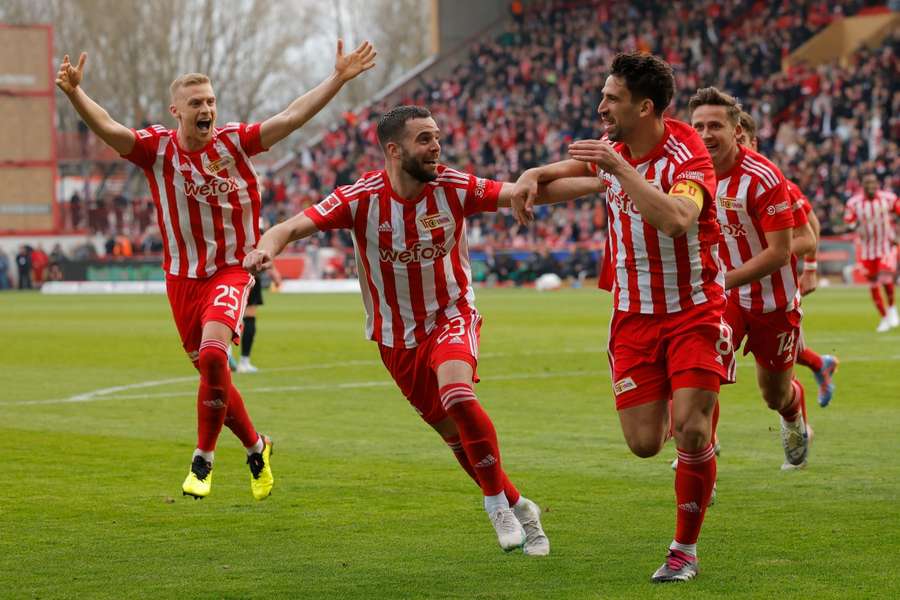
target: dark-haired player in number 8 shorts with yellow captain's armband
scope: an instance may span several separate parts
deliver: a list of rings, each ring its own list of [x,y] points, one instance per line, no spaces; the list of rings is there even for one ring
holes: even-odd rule
[[[569,147],[571,160],[529,169],[513,208],[533,220],[539,184],[599,176],[609,239],[601,285],[611,289],[609,363],[625,441],[642,458],[669,437],[678,450],[675,537],[655,582],[697,574],[697,539],[716,481],[719,387],[733,381],[731,330],[709,153],[686,123],[663,117],[675,79],[658,57],[619,54],[597,108],[605,135]]]

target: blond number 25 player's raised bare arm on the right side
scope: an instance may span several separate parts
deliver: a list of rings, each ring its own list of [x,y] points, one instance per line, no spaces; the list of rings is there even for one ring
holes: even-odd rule
[[[271,148],[304,123],[316,116],[334,98],[344,84],[364,71],[375,66],[375,48],[363,42],[350,54],[344,54],[344,42],[338,40],[334,72],[322,83],[306,92],[290,106],[274,117],[263,121],[260,127],[260,141],[263,148]]]

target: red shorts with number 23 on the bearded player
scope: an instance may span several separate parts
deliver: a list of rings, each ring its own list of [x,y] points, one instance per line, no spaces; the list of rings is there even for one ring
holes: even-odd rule
[[[431,335],[415,348],[378,345],[381,360],[419,416],[433,425],[447,418],[437,382],[438,367],[448,360],[478,366],[481,315],[471,313],[437,322]],[[472,377],[478,381],[478,375]]]

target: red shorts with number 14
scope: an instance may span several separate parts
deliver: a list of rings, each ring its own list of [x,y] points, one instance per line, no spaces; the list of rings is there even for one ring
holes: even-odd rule
[[[786,371],[794,365],[800,346],[800,309],[753,313],[729,301],[725,320],[734,334],[734,347],[744,337],[744,354],[753,353],[756,362],[769,371]]]

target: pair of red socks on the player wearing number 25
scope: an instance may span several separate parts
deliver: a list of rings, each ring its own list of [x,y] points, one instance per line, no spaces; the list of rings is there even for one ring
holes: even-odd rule
[[[244,399],[231,383],[228,369],[228,345],[219,340],[204,340],[196,363],[200,371],[200,390],[197,393],[197,447],[212,452],[227,425],[245,448],[259,439]]]

